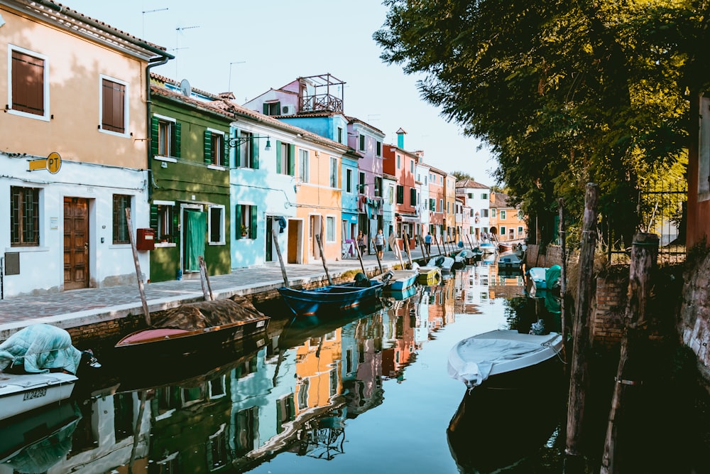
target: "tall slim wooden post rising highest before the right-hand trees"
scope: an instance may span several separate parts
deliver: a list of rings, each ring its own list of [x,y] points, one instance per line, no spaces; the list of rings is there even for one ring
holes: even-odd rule
[[[596,249],[596,205],[599,187],[587,183],[584,195],[584,218],[582,220],[581,249],[579,254],[579,286],[574,305],[574,327],[572,331],[572,367],[569,377],[569,400],[567,403],[567,446],[568,456],[580,456],[581,427],[584,421],[584,402],[589,374],[587,360],[591,340],[591,279],[594,277],[594,250]]]

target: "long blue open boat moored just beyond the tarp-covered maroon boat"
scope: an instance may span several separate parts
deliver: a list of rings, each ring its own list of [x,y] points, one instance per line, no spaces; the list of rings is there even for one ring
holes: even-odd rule
[[[359,274],[361,275],[361,274]],[[364,275],[363,275],[364,276]],[[342,311],[369,303],[382,294],[386,281],[373,281],[366,277],[352,283],[328,285],[310,290],[296,290],[285,286],[278,289],[291,311],[297,315],[311,316]]]

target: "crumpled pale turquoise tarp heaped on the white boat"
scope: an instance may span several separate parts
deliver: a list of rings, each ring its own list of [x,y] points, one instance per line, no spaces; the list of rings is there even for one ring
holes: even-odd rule
[[[81,358],[82,352],[72,345],[69,333],[48,324],[18,330],[0,344],[0,370],[23,365],[28,373],[62,369],[76,374]]]

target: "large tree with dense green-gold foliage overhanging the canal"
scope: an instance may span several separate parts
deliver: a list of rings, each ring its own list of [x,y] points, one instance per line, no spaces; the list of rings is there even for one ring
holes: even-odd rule
[[[545,242],[558,198],[581,221],[594,182],[603,225],[626,247],[640,190],[684,179],[684,91],[706,55],[706,1],[385,4],[373,35],[383,60],[424,73],[422,98],[491,146],[496,178]]]

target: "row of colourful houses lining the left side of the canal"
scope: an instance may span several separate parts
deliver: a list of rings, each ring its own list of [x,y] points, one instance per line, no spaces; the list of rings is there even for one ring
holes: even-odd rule
[[[359,231],[525,236],[505,199],[425,163],[403,129],[386,144],[347,116],[330,74],[240,105],[156,74],[165,48],[53,1],[0,1],[0,16],[1,298],[133,283],[133,245],[142,278],[165,281],[200,257],[209,274],[278,252],[341,259]]]

